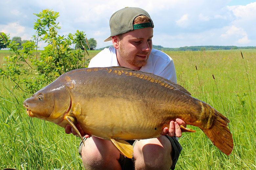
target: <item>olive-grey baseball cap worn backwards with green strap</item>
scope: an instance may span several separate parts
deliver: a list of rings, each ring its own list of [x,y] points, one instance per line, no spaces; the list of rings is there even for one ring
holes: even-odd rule
[[[151,22],[133,25],[134,19],[139,15],[145,15],[145,16],[149,17]],[[150,18],[149,14],[143,9],[134,8],[134,7],[125,7],[123,9],[120,9],[117,12],[115,12],[110,17],[109,26],[110,26],[110,31],[111,31],[110,37],[105,39],[104,42],[111,41],[112,36],[120,35],[120,34],[129,32],[129,31],[133,31],[134,29],[146,28],[146,27],[154,28],[153,21]]]

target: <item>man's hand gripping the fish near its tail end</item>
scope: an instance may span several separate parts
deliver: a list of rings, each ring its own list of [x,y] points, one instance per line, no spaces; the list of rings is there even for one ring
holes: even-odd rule
[[[170,126],[169,126],[169,129],[168,127],[165,127],[161,133],[161,135],[168,135],[168,136],[176,136],[176,137],[181,137],[181,128],[180,128],[180,125],[186,127],[187,124],[177,118],[175,121],[171,121],[170,122]]]

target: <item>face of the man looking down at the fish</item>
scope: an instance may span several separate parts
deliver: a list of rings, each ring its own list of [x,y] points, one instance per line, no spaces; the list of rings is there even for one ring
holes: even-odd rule
[[[153,28],[140,28],[122,35],[117,49],[120,66],[137,69],[147,64],[152,50]]]

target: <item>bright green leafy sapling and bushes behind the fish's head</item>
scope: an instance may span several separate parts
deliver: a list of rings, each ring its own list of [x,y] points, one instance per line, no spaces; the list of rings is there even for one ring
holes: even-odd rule
[[[35,15],[38,18],[34,23],[36,35],[33,35],[33,41],[23,43],[22,49],[18,49],[18,43],[11,41],[8,45],[10,56],[4,57],[0,67],[0,77],[9,78],[15,84],[13,88],[28,93],[34,93],[68,71],[85,68],[89,63],[87,51],[71,48],[83,41],[83,31],[59,35],[60,26],[56,22],[58,12],[46,9]],[[38,55],[37,45],[40,41],[48,45]]]

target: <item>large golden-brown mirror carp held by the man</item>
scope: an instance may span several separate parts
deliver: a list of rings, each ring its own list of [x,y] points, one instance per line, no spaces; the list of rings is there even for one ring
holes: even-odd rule
[[[224,115],[181,85],[125,67],[69,71],[27,98],[23,106],[30,117],[60,127],[70,124],[82,139],[78,123],[86,134],[110,140],[128,158],[133,147],[126,140],[157,138],[176,118],[199,127],[224,154],[233,149]]]

